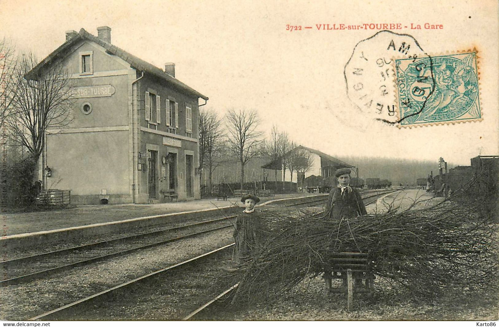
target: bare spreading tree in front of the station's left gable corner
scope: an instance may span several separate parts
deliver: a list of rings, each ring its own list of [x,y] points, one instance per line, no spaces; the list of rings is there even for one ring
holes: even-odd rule
[[[53,62],[38,67],[34,54],[23,54],[16,67],[17,80],[12,87],[14,114],[5,123],[12,138],[26,147],[38,160],[48,128],[64,127],[72,121],[72,90],[69,74],[62,64]]]

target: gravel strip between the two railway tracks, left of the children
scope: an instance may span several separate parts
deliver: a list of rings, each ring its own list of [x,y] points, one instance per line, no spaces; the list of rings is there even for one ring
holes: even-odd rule
[[[26,320],[232,242],[231,231],[214,231],[62,272],[49,279],[5,286],[0,295],[0,318]]]

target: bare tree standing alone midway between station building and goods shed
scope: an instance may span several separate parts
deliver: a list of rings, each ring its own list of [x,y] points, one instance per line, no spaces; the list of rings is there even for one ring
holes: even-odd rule
[[[258,130],[260,119],[253,110],[235,109],[229,110],[226,114],[228,130],[229,151],[238,159],[241,164],[241,189],[243,189],[245,177],[245,165],[248,161],[260,154],[261,136],[263,133]]]

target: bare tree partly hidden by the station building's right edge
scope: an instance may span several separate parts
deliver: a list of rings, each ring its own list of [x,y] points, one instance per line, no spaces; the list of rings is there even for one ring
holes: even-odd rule
[[[212,193],[213,171],[224,161],[225,149],[222,120],[212,109],[199,112],[199,161],[200,167],[208,171],[208,192]],[[201,178],[201,176],[200,176]]]

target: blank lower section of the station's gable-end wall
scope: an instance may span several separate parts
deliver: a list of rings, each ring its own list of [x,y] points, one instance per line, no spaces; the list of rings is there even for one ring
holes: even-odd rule
[[[128,130],[47,135],[47,189],[71,190],[71,202],[98,204],[102,189],[112,203],[131,201]]]

